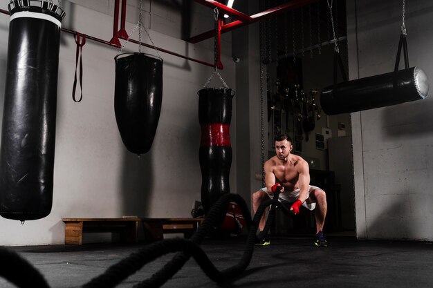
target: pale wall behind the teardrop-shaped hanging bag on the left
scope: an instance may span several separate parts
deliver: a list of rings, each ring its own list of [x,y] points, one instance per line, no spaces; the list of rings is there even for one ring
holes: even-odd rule
[[[63,21],[65,28],[101,39],[111,39],[113,1],[100,0],[97,1],[98,5],[95,5],[96,1],[73,2],[62,1],[67,13]],[[133,29],[138,19],[138,11],[133,9],[133,6],[138,5],[134,2],[129,1],[127,19],[131,23],[127,23],[127,32]],[[2,0],[0,8],[7,10],[7,3],[8,1]],[[192,45],[178,37],[180,11],[176,12],[163,4],[158,6],[158,1],[146,0],[144,3],[144,9],[147,9],[144,12],[145,26],[151,27],[149,33],[156,46],[212,63],[211,41]],[[94,7],[84,7],[81,4]],[[212,28],[212,10],[209,10],[208,21],[211,21]],[[8,21],[7,15],[0,15],[1,111]],[[205,29],[205,25],[202,28]],[[135,35],[133,39],[137,37]],[[225,36],[225,39],[228,37]],[[143,37],[143,40],[149,43],[147,38]],[[123,146],[114,117],[113,57],[118,49],[94,41],[86,42],[82,52],[83,100],[75,103],[71,99],[75,41],[72,35],[62,33],[61,43],[53,210],[48,217],[27,221],[24,225],[1,218],[0,229],[3,232],[0,233],[0,245],[62,244],[62,218],[117,218],[122,215],[190,217],[194,200],[200,200],[201,189],[197,91],[203,87],[213,69],[160,53],[164,59],[162,111],[151,151],[138,158]],[[225,44],[230,45],[227,41]],[[230,51],[230,46],[224,49]],[[128,44],[125,51],[128,50],[136,51],[138,47]],[[147,48],[142,48],[142,51],[155,53]],[[225,68],[221,75],[235,89],[234,63],[225,54],[222,55],[222,61]],[[211,86],[213,85],[221,84],[212,81]],[[233,115],[232,125],[235,124],[236,117]],[[233,130],[231,129],[231,137],[234,157],[230,186],[234,192],[237,169],[236,137]]]

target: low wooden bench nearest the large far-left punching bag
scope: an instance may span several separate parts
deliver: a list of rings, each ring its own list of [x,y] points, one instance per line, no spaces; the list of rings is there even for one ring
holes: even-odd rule
[[[140,218],[64,218],[65,244],[82,244],[83,232],[120,232],[120,241],[138,242]]]

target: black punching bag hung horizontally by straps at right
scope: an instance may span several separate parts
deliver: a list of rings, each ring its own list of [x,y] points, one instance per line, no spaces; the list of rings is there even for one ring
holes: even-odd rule
[[[428,90],[427,75],[412,67],[326,87],[320,104],[327,115],[352,113],[424,99]]]

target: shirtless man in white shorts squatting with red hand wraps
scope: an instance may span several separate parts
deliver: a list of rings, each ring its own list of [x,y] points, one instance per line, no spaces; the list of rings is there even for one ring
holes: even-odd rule
[[[316,186],[310,185],[310,172],[308,163],[302,157],[291,154],[293,149],[292,140],[288,135],[280,135],[275,138],[275,152],[277,155],[266,161],[265,182],[266,187],[252,194],[252,209],[256,213],[260,204],[273,197],[277,186],[282,186],[279,201],[291,203],[291,211],[297,215],[300,207],[315,211],[316,235],[315,246],[326,246],[323,235],[323,225],[326,217],[326,194]],[[266,224],[265,215],[259,222],[262,231]],[[260,245],[268,245],[270,241],[265,238]]]

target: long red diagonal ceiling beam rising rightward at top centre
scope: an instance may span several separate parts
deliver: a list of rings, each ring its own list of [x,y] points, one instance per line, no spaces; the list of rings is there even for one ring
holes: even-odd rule
[[[196,2],[201,2],[201,1],[206,1],[209,3],[208,0],[196,0]],[[221,33],[225,33],[225,32],[229,32],[231,30],[234,30],[236,28],[241,28],[243,26],[247,26],[251,23],[256,23],[258,21],[264,20],[264,19],[268,19],[270,17],[274,17],[276,15],[282,14],[286,11],[290,11],[293,9],[297,9],[297,8],[301,8],[302,6],[306,6],[308,4],[317,2],[318,0],[293,0],[290,1],[288,3],[284,3],[282,5],[276,6],[274,8],[270,8],[268,10],[259,12],[255,15],[252,15],[249,21],[233,21],[232,23],[228,23],[223,25],[223,27],[221,27]],[[208,5],[206,5],[208,6]],[[205,39],[209,39],[211,37],[214,36],[215,31],[214,30],[210,30],[207,32],[203,32],[199,35],[196,35],[194,37],[191,37],[190,39],[187,39],[188,42],[190,43],[197,43],[200,41],[203,41]]]

